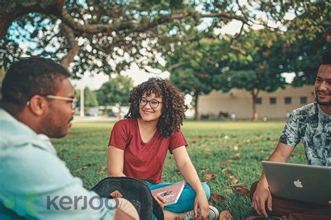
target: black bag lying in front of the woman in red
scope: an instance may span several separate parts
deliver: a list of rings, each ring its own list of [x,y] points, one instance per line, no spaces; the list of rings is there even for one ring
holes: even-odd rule
[[[107,177],[102,179],[91,190],[101,197],[112,198],[110,193],[119,191],[123,198],[129,200],[138,211],[142,220],[152,219],[154,213],[156,219],[163,220],[163,210],[152,196],[147,184],[140,179],[130,177]]]

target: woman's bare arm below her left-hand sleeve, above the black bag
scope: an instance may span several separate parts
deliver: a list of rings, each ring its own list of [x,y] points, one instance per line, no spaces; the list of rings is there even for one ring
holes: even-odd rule
[[[123,173],[124,150],[108,147],[108,177],[126,177]]]

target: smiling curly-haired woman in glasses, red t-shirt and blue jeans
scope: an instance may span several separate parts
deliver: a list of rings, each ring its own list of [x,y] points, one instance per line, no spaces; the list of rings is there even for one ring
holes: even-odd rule
[[[164,207],[165,219],[183,217],[193,210],[195,217],[209,214],[209,186],[201,183],[186,152],[187,142],[180,131],[186,105],[183,94],[168,80],[149,78],[135,87],[129,97],[126,119],[117,122],[108,147],[108,176],[145,179],[149,189],[172,183],[161,180],[163,163],[168,152],[188,184],[174,205]],[[163,207],[165,199],[157,196]]]

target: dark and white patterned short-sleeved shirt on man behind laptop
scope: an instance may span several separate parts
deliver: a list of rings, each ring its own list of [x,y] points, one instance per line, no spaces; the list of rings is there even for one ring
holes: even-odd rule
[[[330,127],[331,115],[310,103],[290,113],[279,142],[295,147],[301,139],[309,165],[331,166]]]

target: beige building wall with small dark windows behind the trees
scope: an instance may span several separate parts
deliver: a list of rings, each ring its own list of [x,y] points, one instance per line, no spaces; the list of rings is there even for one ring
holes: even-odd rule
[[[307,102],[300,101],[302,97]],[[260,91],[258,94],[261,103],[256,104],[258,118],[283,119],[286,112],[291,112],[307,103],[315,101],[314,86],[293,88],[288,85],[286,89],[279,89],[272,93]],[[270,103],[270,98],[276,98],[276,103]],[[290,103],[285,103],[285,98],[290,98]],[[304,100],[302,100],[304,101]],[[235,112],[237,119],[251,119],[253,116],[253,101],[251,94],[242,89],[231,89],[227,93],[212,91],[208,95],[202,95],[198,100],[198,115],[209,115],[215,118],[219,112],[227,112],[229,115]]]

